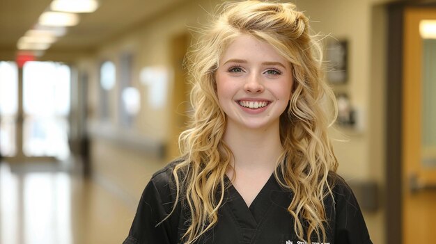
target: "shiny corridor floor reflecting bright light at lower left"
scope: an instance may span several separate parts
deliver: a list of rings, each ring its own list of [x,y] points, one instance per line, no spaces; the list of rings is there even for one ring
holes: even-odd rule
[[[1,244],[122,243],[134,209],[68,170],[0,163]]]

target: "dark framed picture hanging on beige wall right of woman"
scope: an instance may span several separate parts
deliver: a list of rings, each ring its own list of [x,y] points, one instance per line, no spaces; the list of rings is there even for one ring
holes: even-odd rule
[[[345,83],[348,79],[348,43],[332,40],[327,43],[327,79],[330,83]]]

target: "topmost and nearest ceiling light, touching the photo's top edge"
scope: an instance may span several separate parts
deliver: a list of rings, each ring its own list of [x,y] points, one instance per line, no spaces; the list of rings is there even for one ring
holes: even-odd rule
[[[54,11],[70,13],[92,13],[98,8],[95,0],[54,0],[50,4]]]

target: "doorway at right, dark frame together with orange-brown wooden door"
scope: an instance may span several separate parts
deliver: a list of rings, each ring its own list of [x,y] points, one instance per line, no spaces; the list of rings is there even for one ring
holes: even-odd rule
[[[419,31],[421,21],[436,19],[435,7],[388,8],[387,243],[436,238],[436,41]]]

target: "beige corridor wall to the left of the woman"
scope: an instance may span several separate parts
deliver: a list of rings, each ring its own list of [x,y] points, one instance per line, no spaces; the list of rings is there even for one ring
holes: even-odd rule
[[[88,127],[91,131],[97,129],[91,145],[91,159],[95,179],[104,184],[109,190],[121,195],[123,199],[135,210],[146,181],[153,172],[162,168],[173,155],[165,159],[156,158],[137,147],[129,148],[123,141],[116,138],[100,137],[100,133],[136,133],[144,140],[168,144],[170,138],[170,123],[176,108],[171,107],[171,94],[173,81],[170,80],[166,106],[153,108],[148,104],[148,87],[140,83],[140,72],[143,67],[163,66],[171,67],[170,44],[171,40],[182,33],[188,32],[188,26],[195,26],[197,21],[205,17],[205,6],[201,1],[189,1],[189,4],[175,6],[165,15],[148,19],[137,29],[127,32],[102,46],[95,55],[79,58],[77,62],[79,72],[88,72],[90,121]],[[201,4],[201,6],[199,5]],[[137,115],[132,129],[120,129],[118,121],[118,87],[109,92],[109,107],[111,119],[102,122],[98,117],[99,106],[99,67],[102,61],[111,60],[118,65],[120,54],[130,51],[134,54],[132,85],[141,92],[141,111]],[[118,77],[119,79],[119,77]],[[179,111],[180,112],[180,111]],[[136,142],[130,142],[134,145]],[[124,147],[123,147],[124,145]],[[123,193],[121,189],[125,189]],[[134,204],[132,204],[134,203]]]

